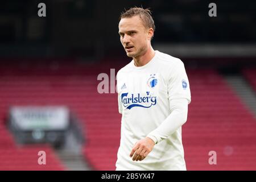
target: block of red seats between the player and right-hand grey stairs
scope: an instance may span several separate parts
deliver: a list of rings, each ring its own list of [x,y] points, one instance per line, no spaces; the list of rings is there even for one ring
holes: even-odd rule
[[[213,70],[189,71],[192,102],[183,127],[188,170],[255,170],[256,121]],[[217,165],[209,165],[216,151]]]

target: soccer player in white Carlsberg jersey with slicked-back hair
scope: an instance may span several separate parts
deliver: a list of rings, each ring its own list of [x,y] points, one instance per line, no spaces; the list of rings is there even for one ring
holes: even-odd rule
[[[184,64],[152,48],[150,10],[127,10],[118,27],[133,60],[117,73],[122,121],[116,170],[186,170],[181,126],[191,93]]]

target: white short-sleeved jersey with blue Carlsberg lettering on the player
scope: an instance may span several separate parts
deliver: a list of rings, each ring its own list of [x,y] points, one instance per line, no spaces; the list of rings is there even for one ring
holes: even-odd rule
[[[136,67],[132,60],[117,73],[117,92],[122,113],[117,170],[185,170],[181,126],[163,140],[158,139],[144,160],[136,162],[129,156],[134,144],[171,114],[172,100],[185,98],[188,104],[191,102],[183,62],[159,51],[142,67]]]

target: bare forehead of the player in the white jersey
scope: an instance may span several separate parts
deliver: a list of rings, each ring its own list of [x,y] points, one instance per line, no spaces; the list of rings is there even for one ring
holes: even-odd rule
[[[131,30],[142,30],[144,28],[142,19],[139,16],[133,16],[131,18],[122,18],[119,22],[119,32],[127,32]]]

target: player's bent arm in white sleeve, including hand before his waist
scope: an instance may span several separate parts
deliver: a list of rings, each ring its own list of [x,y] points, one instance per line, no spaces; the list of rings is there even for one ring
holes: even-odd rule
[[[191,102],[191,93],[185,67],[182,61],[177,61],[168,77],[168,100],[171,114],[153,130],[146,138],[135,143],[130,157],[133,160],[143,160],[153,150],[155,144],[170,137],[187,121],[188,104]]]

